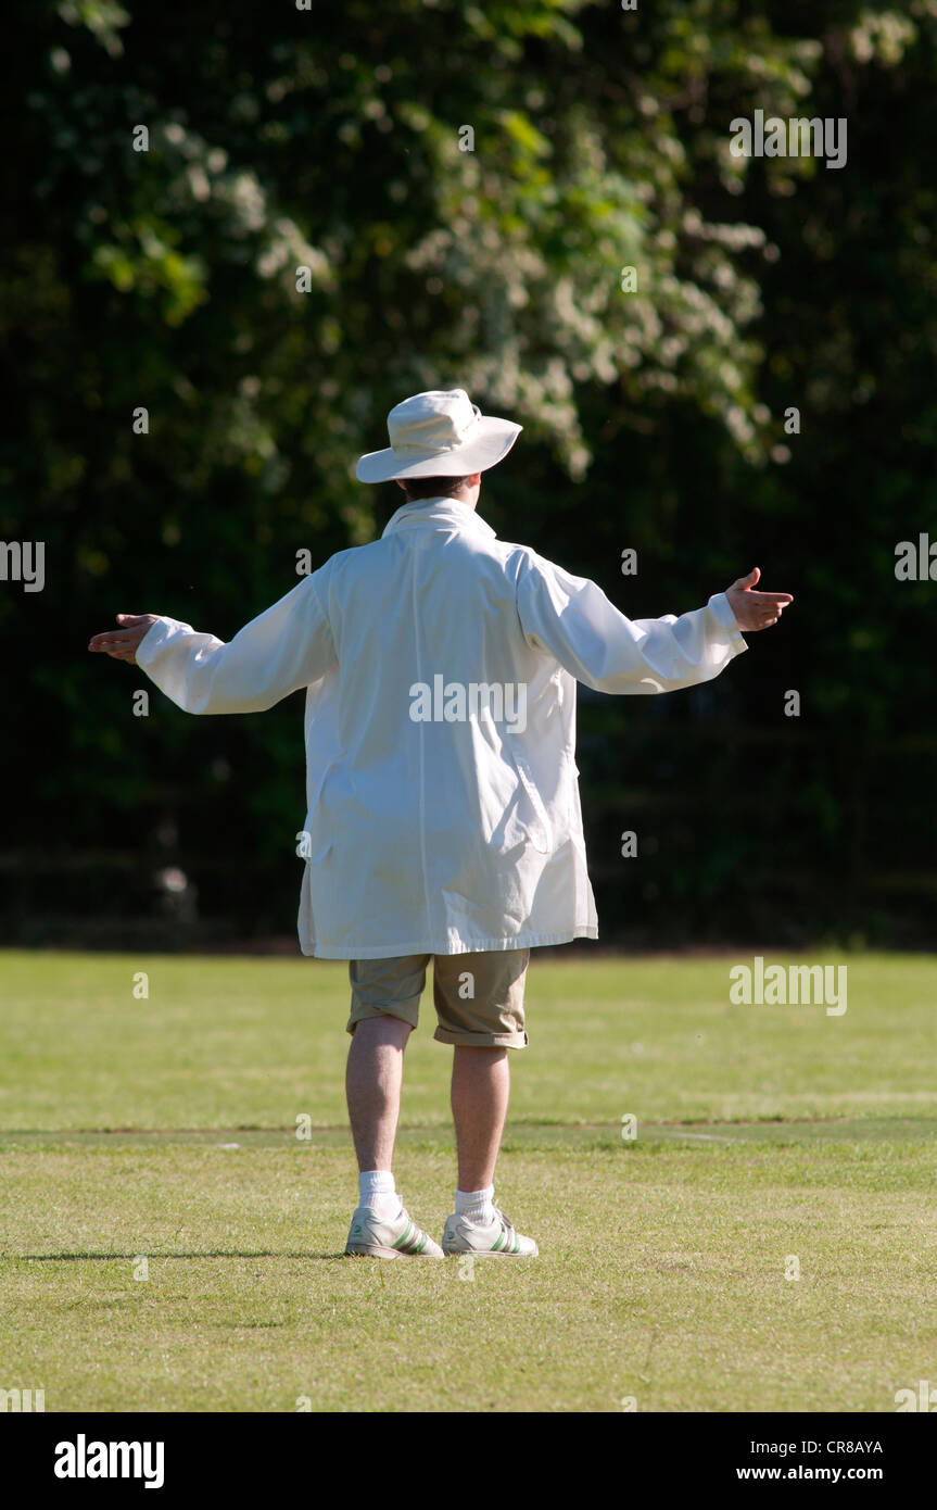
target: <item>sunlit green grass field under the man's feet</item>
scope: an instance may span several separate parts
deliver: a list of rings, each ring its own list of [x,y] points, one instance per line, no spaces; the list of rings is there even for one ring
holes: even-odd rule
[[[893,1412],[937,1383],[937,960],[849,956],[843,1016],[729,1006],[741,960],[534,951],[496,1188],[542,1256],[463,1277],[341,1256],[344,963],[0,954],[0,1389],[48,1412]],[[438,1237],[433,1025],[427,991],[397,1185]]]

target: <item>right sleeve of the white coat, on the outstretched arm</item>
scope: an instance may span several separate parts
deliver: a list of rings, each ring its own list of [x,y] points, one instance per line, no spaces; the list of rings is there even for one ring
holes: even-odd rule
[[[711,681],[748,646],[724,592],[674,618],[626,619],[602,589],[534,553],[518,574],[524,637],[594,692],[676,692]]]

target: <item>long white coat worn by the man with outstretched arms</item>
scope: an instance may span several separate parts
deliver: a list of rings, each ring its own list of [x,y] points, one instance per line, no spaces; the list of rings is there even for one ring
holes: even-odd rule
[[[187,713],[258,713],[306,687],[300,947],[379,959],[598,938],[576,681],[674,692],[745,648],[721,592],[631,621],[596,583],[433,498],[228,645],[161,618],[137,664]]]

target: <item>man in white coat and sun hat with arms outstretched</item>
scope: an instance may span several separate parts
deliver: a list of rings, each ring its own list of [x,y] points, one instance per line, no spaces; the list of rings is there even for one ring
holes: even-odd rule
[[[757,568],[703,609],[631,622],[605,593],[475,512],[521,426],[462,388],[388,415],[358,462],[406,503],[379,541],[332,556],[229,645],[118,615],[89,649],[142,666],[189,713],[257,713],[306,687],[305,954],[347,959],[349,1117],[359,1205],[346,1252],[536,1256],[495,1205],[510,1048],[528,1042],[530,950],[598,938],[575,766],[576,681],[673,692],[709,681],[789,593]],[[403,1052],[433,959],[453,1045],[459,1185],[442,1247],[395,1191]]]

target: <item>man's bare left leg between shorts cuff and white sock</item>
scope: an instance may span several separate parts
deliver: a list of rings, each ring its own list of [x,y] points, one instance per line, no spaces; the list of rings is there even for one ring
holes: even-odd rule
[[[403,1051],[412,1033],[401,1018],[365,1018],[352,1034],[346,1096],[358,1169],[392,1169],[400,1120]]]

